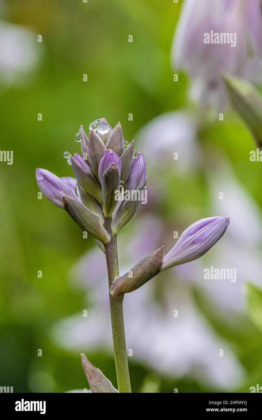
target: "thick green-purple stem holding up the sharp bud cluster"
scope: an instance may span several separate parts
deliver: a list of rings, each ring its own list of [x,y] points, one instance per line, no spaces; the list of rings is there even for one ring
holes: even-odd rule
[[[111,222],[111,218],[105,218],[105,229],[111,235],[110,242],[105,245],[109,288],[114,278],[119,276],[116,236],[112,235]],[[118,391],[131,392],[123,318],[123,297],[113,297],[109,293],[109,301]]]

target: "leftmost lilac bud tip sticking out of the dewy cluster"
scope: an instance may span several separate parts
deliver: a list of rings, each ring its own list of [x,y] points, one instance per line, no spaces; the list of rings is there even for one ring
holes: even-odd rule
[[[45,195],[53,204],[60,208],[64,208],[63,195],[76,198],[71,185],[68,185],[63,179],[58,178],[54,173],[46,169],[37,168],[36,170],[37,184]]]

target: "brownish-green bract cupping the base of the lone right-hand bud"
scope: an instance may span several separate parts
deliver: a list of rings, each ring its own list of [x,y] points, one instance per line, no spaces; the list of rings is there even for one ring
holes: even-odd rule
[[[160,272],[163,259],[164,250],[161,247],[144,257],[123,276],[115,277],[110,293],[113,296],[119,296],[143,286],[144,283],[147,283]]]

